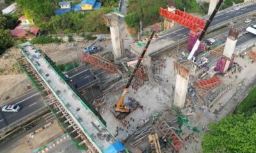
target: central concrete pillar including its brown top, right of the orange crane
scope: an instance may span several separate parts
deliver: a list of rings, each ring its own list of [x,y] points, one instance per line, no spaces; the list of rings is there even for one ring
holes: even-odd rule
[[[177,74],[174,91],[174,106],[178,106],[179,108],[184,107],[188,92],[189,76],[195,75],[195,70],[196,66],[194,64],[184,66],[179,62],[174,62],[174,71]]]

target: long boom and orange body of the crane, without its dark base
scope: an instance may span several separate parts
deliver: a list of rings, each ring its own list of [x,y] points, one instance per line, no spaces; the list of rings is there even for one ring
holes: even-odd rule
[[[143,60],[143,57],[144,57],[145,53],[147,52],[148,46],[149,46],[149,44],[150,44],[154,34],[155,34],[155,30],[152,32],[152,34],[148,38],[147,45],[143,48],[143,52],[141,53],[141,55],[140,55],[140,57],[138,59],[138,62],[137,62],[135,68],[133,69],[133,71],[132,71],[132,73],[131,73],[131,75],[129,77],[129,80],[128,80],[127,84],[125,85],[125,89],[124,89],[124,91],[122,93],[122,96],[120,97],[117,105],[115,105],[115,111],[116,112],[122,112],[123,113],[123,112],[131,112],[131,110],[132,110],[132,108],[129,108],[129,106],[128,107],[124,106],[124,103],[123,103],[124,102],[124,98],[125,98],[125,95],[128,92],[129,86],[131,85],[132,79],[134,78],[134,76],[136,74],[136,71],[137,71],[137,69],[140,66],[140,63]]]

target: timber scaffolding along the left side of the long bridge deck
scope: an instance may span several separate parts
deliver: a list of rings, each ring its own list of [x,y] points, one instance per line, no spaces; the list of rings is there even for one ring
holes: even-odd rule
[[[40,92],[40,96],[42,97],[42,99],[44,99],[45,104],[54,114],[54,117],[56,117],[58,122],[60,122],[62,128],[65,129],[70,138],[72,138],[72,141],[76,144],[77,149],[86,150],[88,147],[91,150],[97,152],[97,150],[95,150],[95,148],[93,147],[92,143],[90,143],[90,141],[87,140],[86,136],[83,135],[81,129],[78,128],[74,121],[72,122],[70,115],[65,112],[63,106],[52,94],[51,89],[47,87],[47,85],[44,83],[44,80],[42,80],[40,75],[38,75],[33,66],[26,60],[24,56],[20,57],[18,61],[22,71],[26,73],[31,83]]]

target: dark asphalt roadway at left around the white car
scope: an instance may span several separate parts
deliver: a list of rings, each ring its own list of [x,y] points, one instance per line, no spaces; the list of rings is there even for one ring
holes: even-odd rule
[[[40,94],[37,91],[27,92],[23,94],[19,98],[13,100],[12,102],[8,103],[8,105],[19,105],[21,106],[21,110],[17,113],[3,113],[1,106],[0,111],[0,129],[4,128],[4,126],[8,126],[12,122],[16,120],[22,119],[29,113],[32,113],[39,108],[42,108],[45,104],[42,101]]]

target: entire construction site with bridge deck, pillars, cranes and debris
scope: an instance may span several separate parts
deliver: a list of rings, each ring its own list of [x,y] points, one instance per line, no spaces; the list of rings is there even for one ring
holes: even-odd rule
[[[18,61],[81,149],[202,152],[207,123],[232,113],[256,81],[256,29],[248,29],[243,18],[223,29],[209,28],[212,22],[218,25],[214,17],[222,2],[211,2],[204,19],[173,6],[159,8],[164,31],[188,31],[173,41],[164,40],[166,32],[156,26],[147,39],[131,43],[124,15],[104,15],[113,50],[93,46],[106,40],[100,34],[77,54],[79,66],[67,73],[29,41],[19,45]]]

